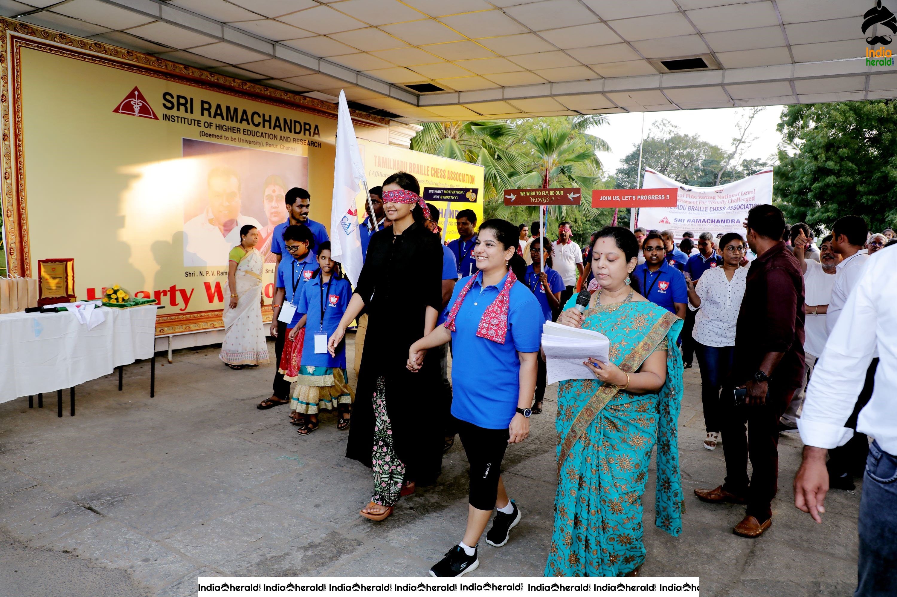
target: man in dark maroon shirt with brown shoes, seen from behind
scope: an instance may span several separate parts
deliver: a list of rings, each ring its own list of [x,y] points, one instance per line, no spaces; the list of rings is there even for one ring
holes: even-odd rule
[[[733,532],[752,539],[772,523],[779,417],[804,375],[804,276],[782,241],[784,231],[778,208],[757,205],[748,213],[747,243],[758,256],[747,274],[738,312],[736,365],[720,397],[726,482],[716,489],[694,490],[705,502],[747,504],[745,519]],[[742,387],[745,403],[736,404],[733,391]],[[750,480],[748,454],[753,464]]]

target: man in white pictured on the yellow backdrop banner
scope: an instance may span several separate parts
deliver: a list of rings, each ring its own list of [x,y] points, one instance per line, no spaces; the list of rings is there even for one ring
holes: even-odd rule
[[[227,265],[228,253],[239,245],[239,229],[255,218],[242,215],[239,177],[229,168],[209,170],[208,205],[184,224],[184,266]]]

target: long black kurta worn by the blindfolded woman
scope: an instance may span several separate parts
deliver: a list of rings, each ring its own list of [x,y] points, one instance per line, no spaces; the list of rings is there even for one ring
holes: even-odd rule
[[[386,382],[393,445],[406,478],[421,485],[436,480],[442,466],[442,427],[437,386],[440,367],[431,350],[420,371],[405,368],[408,349],[423,336],[427,307],[442,307],[440,239],[415,222],[396,235],[392,227],[370,237],[355,293],[368,313],[352,427],[346,456],[370,467],[374,437],[371,398],[377,378]],[[444,409],[443,409],[444,410]]]

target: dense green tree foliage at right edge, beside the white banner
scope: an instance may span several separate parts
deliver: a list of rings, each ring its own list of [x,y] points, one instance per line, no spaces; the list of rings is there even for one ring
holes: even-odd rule
[[[788,221],[831,229],[845,215],[881,230],[897,223],[897,102],[850,101],[789,106],[779,132],[773,190]]]

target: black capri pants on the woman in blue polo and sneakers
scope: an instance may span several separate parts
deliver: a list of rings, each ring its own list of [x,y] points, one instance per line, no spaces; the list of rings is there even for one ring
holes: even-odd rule
[[[457,421],[457,435],[461,438],[467,462],[470,463],[471,506],[477,510],[492,510],[499,494],[501,461],[508,449],[508,428],[487,429],[465,420]]]

